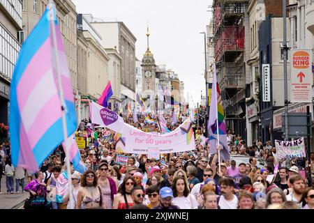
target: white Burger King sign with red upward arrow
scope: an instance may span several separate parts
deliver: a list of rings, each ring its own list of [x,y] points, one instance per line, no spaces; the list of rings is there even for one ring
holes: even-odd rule
[[[312,102],[312,49],[291,49],[290,102]]]

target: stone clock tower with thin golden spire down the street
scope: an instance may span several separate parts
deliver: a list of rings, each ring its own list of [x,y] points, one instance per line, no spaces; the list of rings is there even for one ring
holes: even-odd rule
[[[149,27],[147,26],[147,50],[143,55],[142,59],[142,98],[145,100],[150,100],[155,98],[156,96],[156,64],[154,55],[149,50]],[[149,97],[147,97],[149,95]],[[146,103],[145,103],[146,104]],[[152,103],[151,109],[154,108],[154,103]],[[146,104],[147,105],[147,104]]]

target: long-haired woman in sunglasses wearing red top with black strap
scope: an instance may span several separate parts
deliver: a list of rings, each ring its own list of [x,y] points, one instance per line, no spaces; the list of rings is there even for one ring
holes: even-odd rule
[[[124,181],[119,186],[118,193],[114,196],[113,209],[129,209],[133,206],[133,199],[130,193],[135,183],[132,176],[124,177]]]

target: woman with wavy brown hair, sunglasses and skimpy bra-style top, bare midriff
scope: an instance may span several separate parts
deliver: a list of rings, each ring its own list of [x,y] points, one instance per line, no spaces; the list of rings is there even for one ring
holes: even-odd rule
[[[93,170],[87,169],[81,178],[81,188],[77,193],[76,209],[101,208],[102,206],[98,177]]]

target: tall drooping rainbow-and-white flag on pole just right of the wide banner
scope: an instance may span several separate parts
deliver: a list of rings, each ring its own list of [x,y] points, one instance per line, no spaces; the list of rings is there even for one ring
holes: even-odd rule
[[[221,100],[219,84],[216,77],[216,66],[214,65],[213,87],[211,89],[211,107],[209,110],[208,132],[209,132],[209,153],[216,153],[219,144],[223,147],[220,151],[220,159],[230,160],[230,149],[227,144],[227,128],[225,125],[225,113],[223,111],[223,103]],[[218,127],[217,127],[218,119]]]

